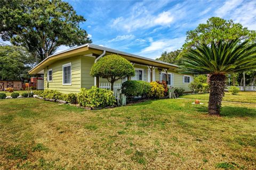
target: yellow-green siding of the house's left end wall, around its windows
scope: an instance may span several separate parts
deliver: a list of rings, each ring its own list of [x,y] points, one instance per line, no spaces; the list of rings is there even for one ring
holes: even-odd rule
[[[71,85],[62,85],[62,65],[71,63]],[[58,90],[63,94],[79,92],[81,88],[81,57],[72,57],[53,63],[44,69],[44,89]],[[52,69],[52,81],[48,82],[47,69]]]

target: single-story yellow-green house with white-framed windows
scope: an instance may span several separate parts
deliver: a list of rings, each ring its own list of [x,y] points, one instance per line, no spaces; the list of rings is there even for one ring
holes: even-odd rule
[[[118,54],[126,58],[135,69],[134,77],[116,83],[121,84],[128,79],[148,82],[164,80],[169,86],[190,91],[188,84],[193,81],[193,76],[176,72],[178,65],[93,44],[85,44],[53,54],[31,69],[29,74],[44,74],[44,89],[58,90],[65,94],[79,92],[81,88],[106,86],[109,82],[106,79],[91,77],[90,69],[95,58],[108,54]]]

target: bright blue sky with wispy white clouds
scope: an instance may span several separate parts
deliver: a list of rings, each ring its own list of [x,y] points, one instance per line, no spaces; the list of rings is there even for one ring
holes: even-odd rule
[[[93,44],[153,59],[179,49],[212,16],[256,30],[256,1],[65,1],[87,20],[81,27]]]

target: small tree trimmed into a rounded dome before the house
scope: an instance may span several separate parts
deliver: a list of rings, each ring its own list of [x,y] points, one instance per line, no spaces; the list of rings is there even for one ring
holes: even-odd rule
[[[99,59],[91,68],[93,77],[107,79],[111,83],[111,90],[114,90],[114,82],[126,77],[134,76],[133,65],[125,58],[111,54]]]

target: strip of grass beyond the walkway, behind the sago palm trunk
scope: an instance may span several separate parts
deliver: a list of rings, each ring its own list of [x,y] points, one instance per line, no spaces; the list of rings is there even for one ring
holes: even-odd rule
[[[183,95],[181,98],[209,100],[209,94]],[[225,92],[223,101],[236,101],[256,104],[256,91],[239,91],[238,95]]]

